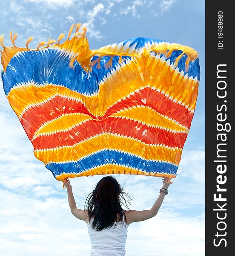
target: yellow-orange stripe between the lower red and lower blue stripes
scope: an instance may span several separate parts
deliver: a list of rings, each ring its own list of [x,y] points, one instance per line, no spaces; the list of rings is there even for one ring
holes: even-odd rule
[[[34,155],[45,164],[77,161],[104,148],[117,149],[135,154],[146,160],[170,162],[178,165],[181,159],[181,148],[170,148],[163,145],[149,145],[142,141],[115,134],[101,134],[77,143],[73,146],[37,150]]]

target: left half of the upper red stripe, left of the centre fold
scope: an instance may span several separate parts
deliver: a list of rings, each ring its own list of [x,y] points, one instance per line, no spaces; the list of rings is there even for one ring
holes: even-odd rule
[[[35,132],[41,125],[67,113],[84,113],[95,118],[82,102],[57,95],[50,99],[49,102],[26,110],[21,116],[20,122],[29,139],[32,140]]]

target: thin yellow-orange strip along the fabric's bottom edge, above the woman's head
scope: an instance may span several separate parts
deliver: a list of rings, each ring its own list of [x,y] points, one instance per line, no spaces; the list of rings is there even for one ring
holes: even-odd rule
[[[75,178],[89,175],[113,175],[113,174],[132,174],[132,175],[145,175],[154,177],[168,177],[169,179],[175,178],[176,175],[160,172],[143,172],[127,166],[118,166],[115,164],[106,164],[103,166],[95,167],[89,171],[80,173],[62,173],[56,176],[59,181],[64,181],[66,178]]]

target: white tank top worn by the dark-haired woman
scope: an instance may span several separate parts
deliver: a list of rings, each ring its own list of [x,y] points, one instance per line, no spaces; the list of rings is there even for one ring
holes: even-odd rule
[[[92,250],[91,256],[125,256],[126,236],[128,225],[125,222],[117,222],[110,228],[96,231],[92,228],[92,221],[87,223]]]

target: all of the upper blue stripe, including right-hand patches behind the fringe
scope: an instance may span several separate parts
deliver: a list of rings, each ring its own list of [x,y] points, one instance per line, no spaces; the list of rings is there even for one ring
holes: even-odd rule
[[[137,40],[138,39],[138,40]],[[146,41],[152,42],[158,41],[151,38],[136,38],[138,46],[144,45]],[[129,40],[127,40],[129,41]],[[127,41],[124,41],[123,44]],[[132,43],[135,43],[134,41]],[[182,51],[174,51],[169,57],[172,63]],[[105,68],[105,64],[109,61],[110,56],[104,56],[100,60],[100,69],[97,68],[97,64],[92,69],[92,72],[86,73],[80,64],[75,61],[74,69],[69,67],[69,56],[59,56],[60,51],[56,49],[48,48],[45,52],[39,51],[26,51],[21,55],[15,55],[11,58],[11,61],[7,65],[6,73],[2,73],[3,87],[6,95],[9,94],[11,88],[17,83],[28,82],[31,79],[37,84],[57,84],[76,91],[77,93],[93,94],[99,91],[100,81],[110,73],[113,68],[116,70],[116,65],[119,60],[119,56],[114,56],[112,61],[112,67]],[[98,56],[94,56],[93,60]],[[130,58],[123,56],[123,58]],[[185,61],[187,56],[183,55],[183,58],[179,61],[178,68],[180,71],[185,71]],[[126,61],[124,61],[126,62]],[[53,69],[53,70],[52,70]],[[44,72],[49,70],[49,75]],[[51,72],[52,71],[52,72]],[[158,70],[156,70],[156,74]],[[200,67],[198,59],[190,61],[189,63],[189,77],[193,76],[200,79]]]

